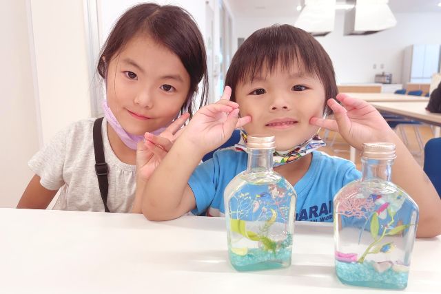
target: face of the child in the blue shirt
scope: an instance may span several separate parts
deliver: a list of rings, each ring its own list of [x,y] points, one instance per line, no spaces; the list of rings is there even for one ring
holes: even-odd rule
[[[265,74],[265,68],[262,72],[252,83],[236,87],[240,116],[252,116],[252,122],[243,127],[245,132],[276,136],[278,151],[314,136],[318,127],[310,125],[309,119],[321,117],[325,107],[325,89],[318,77],[301,74],[296,66],[276,67],[273,74]]]

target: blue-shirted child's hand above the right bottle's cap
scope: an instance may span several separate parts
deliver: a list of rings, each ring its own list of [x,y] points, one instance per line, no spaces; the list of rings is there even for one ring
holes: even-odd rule
[[[335,119],[313,117],[309,123],[340,133],[347,143],[358,150],[362,149],[362,143],[396,140],[395,132],[375,107],[346,94],[338,94],[337,100],[342,105],[334,99],[327,101],[327,105],[334,112]]]

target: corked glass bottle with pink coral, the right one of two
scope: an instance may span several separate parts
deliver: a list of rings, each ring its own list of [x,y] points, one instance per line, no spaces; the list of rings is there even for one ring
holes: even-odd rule
[[[362,178],[334,198],[336,274],[355,286],[402,289],[407,286],[418,206],[391,182],[392,143],[367,143]]]

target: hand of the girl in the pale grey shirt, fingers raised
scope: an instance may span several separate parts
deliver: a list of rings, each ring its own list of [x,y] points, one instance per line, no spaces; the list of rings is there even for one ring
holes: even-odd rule
[[[188,118],[188,113],[179,116],[159,136],[145,133],[145,140],[139,142],[136,149],[137,178],[140,180],[148,180],[150,178],[154,169],[158,167],[161,160],[172,148],[176,138],[183,132],[182,126]]]

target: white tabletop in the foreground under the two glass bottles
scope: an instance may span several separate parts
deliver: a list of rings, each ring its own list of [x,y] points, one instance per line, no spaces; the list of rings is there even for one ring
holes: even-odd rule
[[[224,218],[0,209],[0,236],[0,293],[382,293],[338,281],[331,224],[297,222],[292,265],[249,273]],[[440,293],[440,264],[441,238],[417,240],[404,292]]]

